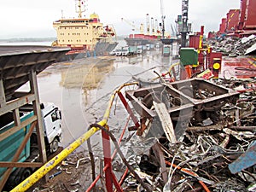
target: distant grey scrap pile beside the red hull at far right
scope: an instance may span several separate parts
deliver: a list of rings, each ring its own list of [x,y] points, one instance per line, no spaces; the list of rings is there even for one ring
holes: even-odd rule
[[[255,44],[255,35],[251,35],[247,38],[229,37],[216,42],[213,49],[217,52],[222,52],[224,55],[246,55],[247,49],[251,48],[253,45],[255,46]]]

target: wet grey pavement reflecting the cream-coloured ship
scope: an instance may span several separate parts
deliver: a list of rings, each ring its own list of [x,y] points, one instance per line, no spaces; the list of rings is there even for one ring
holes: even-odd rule
[[[171,56],[163,57],[160,49],[156,49],[143,55],[87,58],[48,67],[38,75],[39,96],[41,102],[54,102],[61,108],[61,145],[67,147],[87,131],[90,124],[102,119],[110,94],[120,84],[134,81],[132,77],[155,78],[154,70],[165,73],[173,62],[176,61]],[[127,113],[116,118],[122,120],[123,115]],[[113,122],[118,129],[119,122]]]

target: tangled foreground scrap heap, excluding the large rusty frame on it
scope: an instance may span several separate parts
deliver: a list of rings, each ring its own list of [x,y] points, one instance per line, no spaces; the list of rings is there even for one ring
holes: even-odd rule
[[[241,82],[222,84],[230,88]],[[170,117],[161,117],[166,115],[164,103],[154,104],[154,119],[160,119],[159,125],[172,137],[164,131],[161,137],[136,137],[126,143],[126,158],[152,191],[256,191],[256,90],[245,87],[240,92],[235,105],[227,102],[218,113],[212,112],[219,115],[218,122],[190,122],[182,139],[173,139],[172,129],[177,132],[179,127]],[[124,191],[145,190],[130,175]]]

